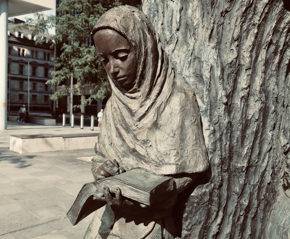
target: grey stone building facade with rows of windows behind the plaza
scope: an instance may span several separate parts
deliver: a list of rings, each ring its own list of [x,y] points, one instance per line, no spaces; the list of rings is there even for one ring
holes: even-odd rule
[[[8,112],[18,111],[23,104],[27,110],[29,105],[29,112],[49,112],[49,96],[53,90],[46,81],[52,78],[54,49],[47,43],[36,45],[36,37],[40,35],[32,36],[28,30],[13,30],[14,26],[23,23],[16,18],[8,22]]]

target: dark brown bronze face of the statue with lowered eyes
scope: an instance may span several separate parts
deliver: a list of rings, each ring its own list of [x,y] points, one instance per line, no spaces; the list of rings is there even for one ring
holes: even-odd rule
[[[127,39],[102,29],[95,33],[94,42],[108,76],[123,89],[130,89],[137,75],[137,57]]]

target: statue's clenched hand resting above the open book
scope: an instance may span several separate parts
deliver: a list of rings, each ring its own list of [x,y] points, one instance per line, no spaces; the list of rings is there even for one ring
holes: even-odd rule
[[[95,180],[115,176],[117,174],[125,172],[123,167],[119,166],[116,159],[106,160],[97,170],[95,170],[94,177]]]

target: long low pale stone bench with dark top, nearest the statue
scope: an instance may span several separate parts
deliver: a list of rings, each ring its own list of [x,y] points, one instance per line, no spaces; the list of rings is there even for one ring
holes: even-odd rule
[[[10,150],[19,154],[75,149],[94,149],[98,133],[11,135]]]

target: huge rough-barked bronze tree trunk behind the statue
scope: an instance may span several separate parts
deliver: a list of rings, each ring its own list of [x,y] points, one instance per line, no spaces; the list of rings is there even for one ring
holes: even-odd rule
[[[211,164],[187,201],[182,238],[290,238],[283,1],[143,0],[143,11],[196,92]]]

